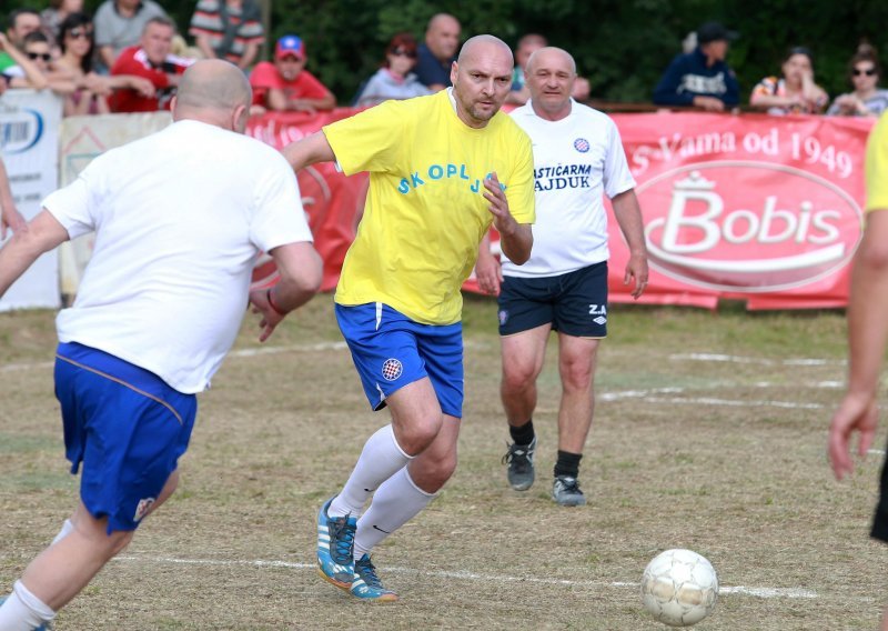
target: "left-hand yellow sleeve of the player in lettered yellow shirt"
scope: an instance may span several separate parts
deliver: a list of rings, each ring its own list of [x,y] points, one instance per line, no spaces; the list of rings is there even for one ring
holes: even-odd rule
[[[322,128],[346,176],[397,170],[403,157],[403,129],[408,124],[403,109],[400,101],[386,101]]]

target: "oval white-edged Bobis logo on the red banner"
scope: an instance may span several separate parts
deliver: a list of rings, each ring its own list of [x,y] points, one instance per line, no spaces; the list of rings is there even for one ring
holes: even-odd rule
[[[650,266],[692,286],[804,287],[846,266],[860,239],[862,212],[846,191],[784,164],[688,164],[636,192]]]

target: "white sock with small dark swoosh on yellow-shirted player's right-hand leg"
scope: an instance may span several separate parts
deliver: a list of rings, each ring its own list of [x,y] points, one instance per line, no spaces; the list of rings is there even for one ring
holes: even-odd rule
[[[370,553],[374,545],[420,514],[436,495],[420,489],[406,467],[389,478],[373,495],[367,512],[357,520],[355,560]]]

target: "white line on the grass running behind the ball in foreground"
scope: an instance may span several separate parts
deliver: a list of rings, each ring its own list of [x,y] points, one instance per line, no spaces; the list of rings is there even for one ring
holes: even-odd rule
[[[294,563],[290,561],[266,561],[262,559],[253,561],[234,561],[222,559],[173,559],[169,557],[114,557],[115,561],[132,561],[135,563],[170,563],[176,565],[245,565],[252,568],[285,568],[294,570],[309,570],[314,569],[314,563]],[[614,581],[605,583],[601,581],[572,581],[569,579],[545,579],[538,577],[503,577],[495,574],[477,574],[468,571],[426,571],[415,570],[413,568],[385,568],[387,573],[394,574],[420,574],[436,579],[456,579],[465,581],[480,581],[480,582],[509,582],[509,583],[536,583],[546,585],[568,585],[568,587],[610,587],[610,588],[634,588],[637,589],[639,583],[629,583]],[[748,588],[748,587],[720,587],[719,594],[730,593],[740,595],[751,595],[756,598],[818,598],[817,592],[799,588]]]

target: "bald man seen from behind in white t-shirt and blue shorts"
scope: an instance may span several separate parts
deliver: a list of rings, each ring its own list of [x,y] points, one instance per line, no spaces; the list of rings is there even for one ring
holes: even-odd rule
[[[3,631],[44,629],[173,493],[196,394],[234,342],[248,297],[264,341],[320,286],[290,166],[235,133],[249,106],[235,66],[196,62],[171,126],[95,158],[0,249],[2,296],[41,253],[97,234],[77,301],[57,319],[56,397],[80,495],[2,599]],[[281,282],[250,292],[263,251]]]

